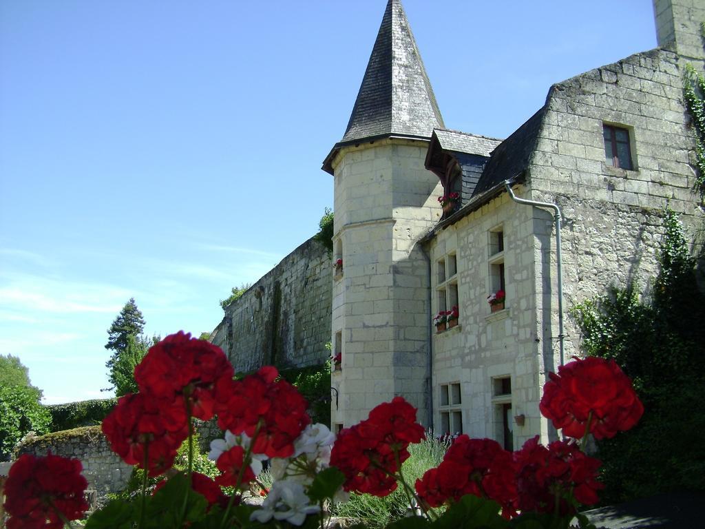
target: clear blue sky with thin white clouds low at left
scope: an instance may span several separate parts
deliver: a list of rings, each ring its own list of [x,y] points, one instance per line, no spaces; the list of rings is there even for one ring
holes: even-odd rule
[[[333,205],[386,0],[0,3],[0,354],[109,396],[130,298],[211,331]],[[656,47],[651,0],[403,0],[448,128],[504,138],[552,83]]]

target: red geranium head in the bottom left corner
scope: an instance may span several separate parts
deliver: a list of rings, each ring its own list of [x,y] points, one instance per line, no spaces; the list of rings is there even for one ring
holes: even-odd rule
[[[81,462],[49,454],[21,456],[10,468],[5,483],[8,529],[62,529],[63,521],[78,520],[87,511]]]

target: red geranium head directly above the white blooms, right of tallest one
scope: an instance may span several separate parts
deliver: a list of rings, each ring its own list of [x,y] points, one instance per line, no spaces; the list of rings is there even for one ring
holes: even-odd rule
[[[306,399],[286,380],[276,377],[276,368],[266,366],[233,382],[229,394],[218,403],[218,425],[233,434],[245,432],[252,437],[254,454],[288,457],[311,418]]]

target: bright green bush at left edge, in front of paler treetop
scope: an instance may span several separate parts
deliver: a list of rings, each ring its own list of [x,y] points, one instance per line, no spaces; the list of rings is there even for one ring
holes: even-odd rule
[[[47,432],[50,420],[49,413],[39,403],[37,388],[0,385],[0,460],[11,455],[27,432]]]

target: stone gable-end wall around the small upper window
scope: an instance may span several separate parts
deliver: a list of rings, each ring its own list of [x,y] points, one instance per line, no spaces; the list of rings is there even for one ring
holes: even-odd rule
[[[658,272],[661,216],[682,215],[689,236],[701,226],[694,184],[694,138],[683,105],[678,56],[635,54],[551,88],[529,167],[530,197],[563,209],[565,308],[603,295],[610,286],[646,291]],[[630,133],[632,169],[605,162],[603,125]],[[556,312],[544,312],[556,291],[551,219],[537,225],[537,291],[544,333],[558,335]],[[566,355],[579,334],[566,320]]]

